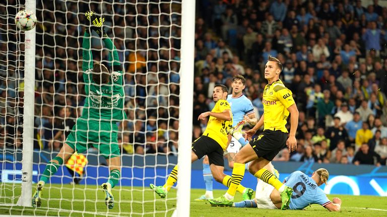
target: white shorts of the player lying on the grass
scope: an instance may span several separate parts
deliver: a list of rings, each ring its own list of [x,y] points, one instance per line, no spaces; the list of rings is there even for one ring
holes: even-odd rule
[[[277,209],[277,207],[270,199],[270,194],[272,193],[274,187],[261,179],[258,179],[258,183],[256,184],[255,189],[255,202],[257,208],[265,208],[265,209]]]

